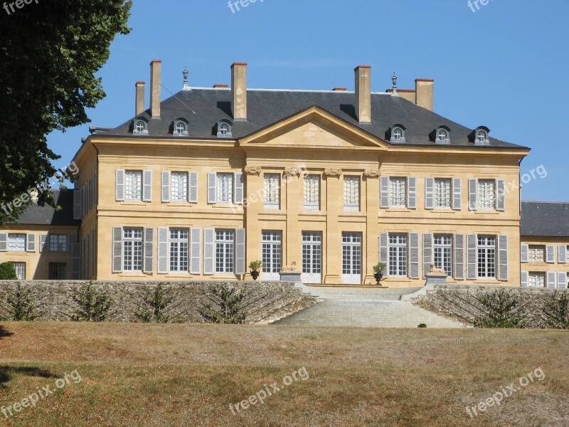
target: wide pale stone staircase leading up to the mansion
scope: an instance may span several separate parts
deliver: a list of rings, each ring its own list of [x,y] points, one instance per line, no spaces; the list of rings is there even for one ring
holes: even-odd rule
[[[301,287],[301,285],[298,285]],[[421,288],[388,289],[354,286],[325,287],[302,285],[304,292],[320,302],[273,325],[456,328],[463,325],[416,307],[408,295]]]

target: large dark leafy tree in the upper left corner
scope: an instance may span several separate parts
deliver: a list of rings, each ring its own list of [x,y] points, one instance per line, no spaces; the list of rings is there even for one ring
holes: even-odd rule
[[[105,97],[95,73],[117,33],[129,33],[131,5],[26,1],[18,9],[8,1],[0,9],[0,224],[16,221],[30,204],[20,196],[57,172],[46,135],[89,122],[85,108]],[[39,191],[46,203],[53,206],[50,192]]]

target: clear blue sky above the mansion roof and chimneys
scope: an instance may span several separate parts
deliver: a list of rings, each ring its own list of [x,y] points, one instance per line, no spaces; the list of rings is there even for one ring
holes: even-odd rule
[[[117,36],[100,70],[107,97],[90,110],[92,123],[48,137],[62,156],[55,166],[68,164],[90,125],[115,127],[134,115],[134,83],[149,83],[154,58],[172,93],[182,87],[184,66],[196,87],[230,83],[231,63],[245,61],[250,88],[353,90],[353,68],[367,64],[376,92],[390,87],[394,71],[399,88],[434,78],[435,112],[532,148],[521,173],[543,164],[547,176],[523,186],[524,200],[569,201],[569,1],[473,7],[467,0],[257,0],[233,13],[227,0],[134,0],[132,33]]]

